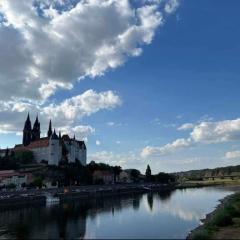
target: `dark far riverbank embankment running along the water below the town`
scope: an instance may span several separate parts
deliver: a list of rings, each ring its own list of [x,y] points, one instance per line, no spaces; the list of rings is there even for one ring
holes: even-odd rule
[[[91,185],[91,186],[76,186],[68,187],[68,192],[64,192],[64,188],[55,189],[38,189],[38,190],[21,190],[0,193],[0,209],[8,206],[19,206],[36,203],[44,204],[46,195],[56,196],[60,202],[74,201],[75,199],[99,198],[119,196],[124,194],[147,193],[156,191],[174,191],[177,189],[190,189],[202,187],[217,187],[217,186],[233,186],[226,184],[123,184],[123,185]]]

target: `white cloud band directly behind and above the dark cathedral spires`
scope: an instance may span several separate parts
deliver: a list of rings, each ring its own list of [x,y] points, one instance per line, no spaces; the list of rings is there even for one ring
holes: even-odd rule
[[[69,133],[72,136],[75,134],[76,137],[84,139],[93,134],[95,129],[91,126],[79,125],[83,117],[101,110],[111,110],[120,104],[120,97],[113,91],[96,92],[92,89],[58,104],[39,105],[35,102],[0,101],[0,133],[21,133],[26,113],[29,111],[32,114],[38,113],[43,133],[47,130],[51,118],[54,127],[63,134]]]

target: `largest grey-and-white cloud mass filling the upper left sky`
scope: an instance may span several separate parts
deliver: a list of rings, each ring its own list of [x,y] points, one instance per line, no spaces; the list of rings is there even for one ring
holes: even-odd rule
[[[46,100],[150,44],[178,1],[1,0],[0,100]]]

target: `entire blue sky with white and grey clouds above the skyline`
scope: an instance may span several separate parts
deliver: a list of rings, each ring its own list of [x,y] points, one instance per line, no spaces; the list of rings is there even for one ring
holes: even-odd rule
[[[0,147],[28,111],[88,162],[175,172],[240,164],[240,2],[1,0]]]

